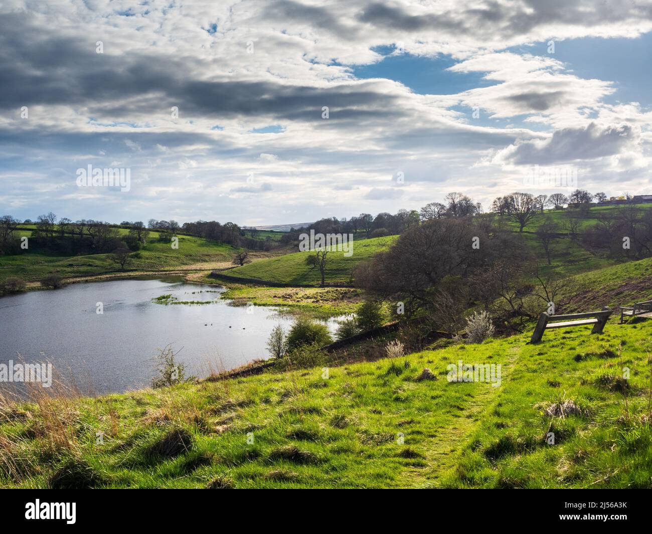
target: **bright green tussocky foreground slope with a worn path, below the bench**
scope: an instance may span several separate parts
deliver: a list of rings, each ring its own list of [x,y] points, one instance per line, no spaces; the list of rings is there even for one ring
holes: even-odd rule
[[[328,378],[319,366],[12,405],[0,412],[0,486],[650,488],[652,323],[588,332],[451,346]],[[447,381],[460,359],[501,364],[501,385]],[[418,379],[426,367],[436,379]]]

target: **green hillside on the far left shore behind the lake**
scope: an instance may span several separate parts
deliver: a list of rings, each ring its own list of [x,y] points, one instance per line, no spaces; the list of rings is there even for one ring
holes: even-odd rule
[[[126,230],[121,231],[126,233]],[[126,266],[136,271],[166,271],[197,265],[200,269],[215,268],[218,263],[230,261],[235,248],[230,245],[211,243],[200,237],[179,235],[179,248],[170,243],[160,243],[158,233],[152,232],[149,242],[139,250]],[[115,273],[119,265],[111,261],[109,254],[85,256],[50,256],[31,252],[0,257],[0,280],[8,276],[20,276],[23,280],[40,280],[46,274],[58,273],[65,278]]]

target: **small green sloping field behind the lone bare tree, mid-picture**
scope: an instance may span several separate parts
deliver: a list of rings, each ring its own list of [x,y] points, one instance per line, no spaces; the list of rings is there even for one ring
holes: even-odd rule
[[[349,281],[353,267],[360,261],[368,260],[377,252],[386,250],[391,246],[397,235],[376,237],[374,239],[361,239],[353,242],[353,254],[348,258],[344,252],[333,251],[327,256],[326,284],[342,284]],[[319,269],[306,265],[306,256],[310,252],[294,252],[268,260],[256,261],[243,267],[231,269],[229,276],[242,278],[258,278],[267,282],[282,282],[285,284],[315,284],[321,281]]]

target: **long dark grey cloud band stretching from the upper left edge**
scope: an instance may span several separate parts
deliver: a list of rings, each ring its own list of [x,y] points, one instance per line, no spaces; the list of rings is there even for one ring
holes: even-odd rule
[[[178,106],[186,118],[269,117],[320,121],[329,106],[330,121],[368,119],[396,110],[396,97],[375,82],[328,87],[267,81],[196,79],[198,65],[187,58],[147,53],[98,54],[95,39],[77,40],[42,33],[25,14],[0,19],[0,108],[37,104],[87,108],[96,118],[170,115]],[[194,71],[194,72],[193,72]],[[395,112],[395,111],[394,111]]]

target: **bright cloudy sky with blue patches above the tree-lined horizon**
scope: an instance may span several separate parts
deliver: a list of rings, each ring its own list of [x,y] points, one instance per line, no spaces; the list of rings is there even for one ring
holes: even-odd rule
[[[650,1],[2,0],[0,215],[265,225],[569,192],[535,166],[652,193],[651,63]],[[88,165],[130,190],[79,187]]]

